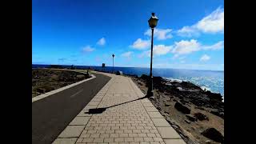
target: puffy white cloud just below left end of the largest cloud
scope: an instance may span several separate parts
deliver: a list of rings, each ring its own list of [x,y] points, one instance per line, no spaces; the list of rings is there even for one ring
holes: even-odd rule
[[[175,57],[177,58],[180,54],[190,54],[194,51],[200,50],[201,44],[197,42],[197,40],[191,39],[190,41],[180,41],[175,42],[174,49],[172,52],[177,54]]]

